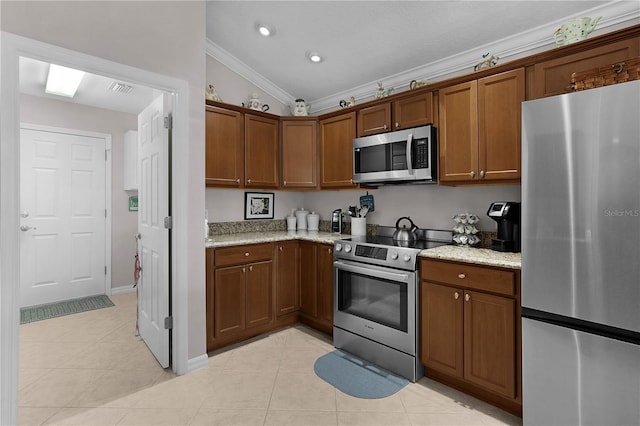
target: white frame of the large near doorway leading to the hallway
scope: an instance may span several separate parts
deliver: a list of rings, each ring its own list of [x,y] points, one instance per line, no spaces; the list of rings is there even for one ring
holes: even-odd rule
[[[130,81],[172,93],[174,170],[188,170],[189,150],[176,146],[189,143],[189,84],[182,79],[157,74],[107,59],[87,55],[12,33],[0,32],[0,424],[15,424],[18,408],[18,357],[20,326],[20,91],[19,58],[81,69],[114,79]],[[189,174],[174,173],[172,188],[173,231],[171,252],[172,368],[186,374],[206,366],[202,356],[189,362]],[[168,190],[169,188],[167,188]],[[206,357],[206,354],[204,355]],[[200,359],[202,358],[202,359]]]

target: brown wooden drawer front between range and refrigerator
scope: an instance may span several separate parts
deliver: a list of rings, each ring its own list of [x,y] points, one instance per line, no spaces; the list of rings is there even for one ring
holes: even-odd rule
[[[457,287],[515,295],[515,272],[501,269],[422,259],[421,278]]]

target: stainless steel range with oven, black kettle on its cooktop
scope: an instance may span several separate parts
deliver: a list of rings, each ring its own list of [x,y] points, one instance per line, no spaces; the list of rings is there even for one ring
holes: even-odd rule
[[[333,343],[415,382],[418,359],[418,254],[451,244],[451,231],[417,231],[418,239],[394,241],[395,227],[377,235],[334,243]],[[401,244],[402,246],[400,246]]]

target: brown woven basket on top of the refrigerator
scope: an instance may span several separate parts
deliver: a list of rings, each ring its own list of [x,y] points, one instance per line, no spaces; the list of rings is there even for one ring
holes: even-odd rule
[[[571,74],[571,91],[593,89],[640,79],[640,57]]]

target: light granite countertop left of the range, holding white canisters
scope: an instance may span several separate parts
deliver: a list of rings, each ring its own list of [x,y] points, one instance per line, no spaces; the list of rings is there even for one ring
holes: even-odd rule
[[[304,240],[316,243],[333,244],[335,240],[342,238],[351,238],[351,235],[319,231],[244,232],[240,234],[214,235],[205,240],[205,247],[228,247],[287,240]]]

